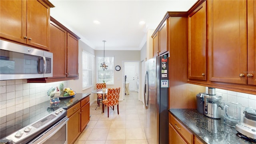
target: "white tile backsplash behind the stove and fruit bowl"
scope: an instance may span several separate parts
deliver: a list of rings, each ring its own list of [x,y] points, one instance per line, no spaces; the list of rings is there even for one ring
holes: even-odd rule
[[[27,83],[26,79],[0,81],[0,118],[42,102],[50,102],[47,90],[67,82]]]

